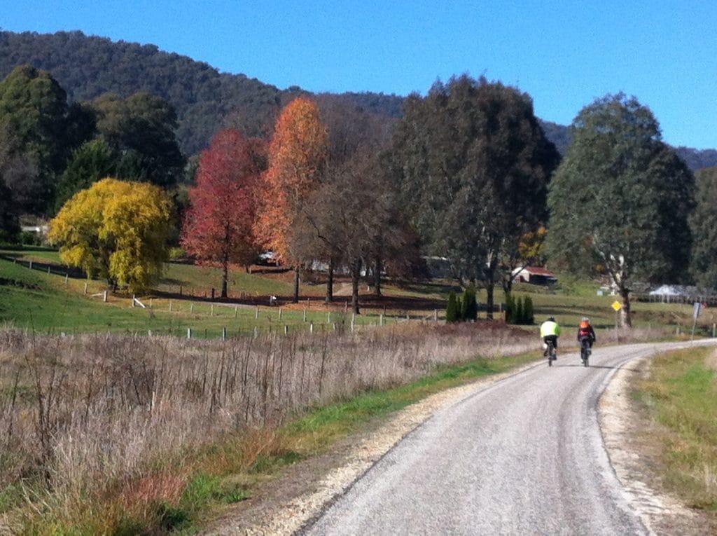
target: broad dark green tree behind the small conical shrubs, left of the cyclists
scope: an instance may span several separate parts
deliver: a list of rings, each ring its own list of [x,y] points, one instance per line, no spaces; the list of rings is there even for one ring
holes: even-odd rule
[[[526,93],[468,76],[407,98],[391,149],[402,201],[429,255],[464,286],[480,282],[488,316],[500,260],[546,217],[559,160]]]

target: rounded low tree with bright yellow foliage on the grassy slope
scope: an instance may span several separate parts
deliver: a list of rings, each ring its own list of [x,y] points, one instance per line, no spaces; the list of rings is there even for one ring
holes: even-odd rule
[[[50,222],[49,240],[68,265],[139,291],[161,276],[171,211],[159,187],[103,179],[65,203]]]

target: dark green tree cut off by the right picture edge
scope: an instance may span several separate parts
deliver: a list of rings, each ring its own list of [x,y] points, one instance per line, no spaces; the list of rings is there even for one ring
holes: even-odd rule
[[[717,288],[717,167],[697,171],[697,207],[690,216],[690,271],[699,286]]]

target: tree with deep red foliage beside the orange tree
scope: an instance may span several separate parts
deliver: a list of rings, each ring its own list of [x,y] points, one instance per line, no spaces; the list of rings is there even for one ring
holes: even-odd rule
[[[196,186],[189,190],[181,244],[199,263],[222,268],[222,298],[230,266],[246,267],[257,253],[252,225],[266,161],[264,141],[232,128],[219,131],[201,154]]]

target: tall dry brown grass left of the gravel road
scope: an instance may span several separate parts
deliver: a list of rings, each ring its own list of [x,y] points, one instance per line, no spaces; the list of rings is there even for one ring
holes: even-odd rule
[[[229,449],[205,454],[218,471],[246,469],[280,452],[277,425],[308,408],[537,347],[534,333],[499,322],[226,342],[4,329],[0,492],[22,482],[30,507],[0,500],[0,514],[22,512],[39,533],[70,519],[100,532],[148,519],[176,503],[213,444]],[[108,526],[92,525],[97,504]]]

